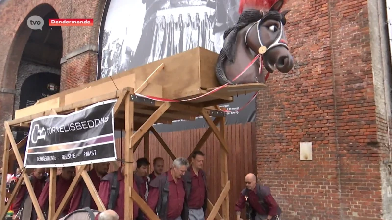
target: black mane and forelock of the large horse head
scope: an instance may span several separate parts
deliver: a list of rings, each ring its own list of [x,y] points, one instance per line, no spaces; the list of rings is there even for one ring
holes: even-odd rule
[[[223,35],[223,39],[225,42],[218,56],[218,62],[216,66],[217,76],[219,76],[218,80],[222,85],[225,83],[233,84],[227,79],[226,74],[224,73],[223,64],[226,61],[226,59],[228,59],[231,63],[234,62],[235,55],[237,52],[235,45],[237,41],[238,32],[244,29],[249,24],[257,22],[260,19],[264,21],[272,19],[276,21],[281,21],[283,25],[286,24],[285,16],[279,13],[278,11],[260,12],[260,10],[255,10],[255,9],[243,11],[240,15],[240,18],[238,19],[238,22],[233,27],[227,29]]]

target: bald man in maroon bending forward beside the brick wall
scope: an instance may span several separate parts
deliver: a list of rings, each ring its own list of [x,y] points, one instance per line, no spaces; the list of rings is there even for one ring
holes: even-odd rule
[[[270,187],[257,183],[254,174],[247,174],[245,183],[246,188],[241,191],[235,205],[237,220],[240,220],[241,210],[245,206],[247,220],[279,220],[282,211],[272,197]]]

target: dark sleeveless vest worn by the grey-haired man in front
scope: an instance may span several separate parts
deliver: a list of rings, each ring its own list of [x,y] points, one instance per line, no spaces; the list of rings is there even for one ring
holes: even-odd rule
[[[168,212],[168,202],[166,200],[166,202],[163,201],[162,195],[164,194],[164,187],[165,184],[167,183],[167,176],[168,173],[162,173],[161,175],[159,175],[158,177],[156,177],[153,181],[151,181],[150,186],[154,187],[154,188],[158,188],[159,191],[159,197],[158,197],[158,203],[156,205],[157,207],[157,214],[159,216],[159,219],[161,220],[167,220],[166,215]],[[184,190],[185,190],[185,199],[184,199],[184,205],[182,208],[182,212],[181,212],[181,219],[183,220],[188,220],[189,218],[189,209],[188,209],[188,201],[187,198],[189,197],[186,187],[185,185],[188,184],[184,181]],[[168,199],[168,195],[166,197],[166,199]],[[166,204],[166,208],[163,207],[163,204]],[[160,208],[158,208],[160,207]],[[160,210],[159,210],[160,209]]]

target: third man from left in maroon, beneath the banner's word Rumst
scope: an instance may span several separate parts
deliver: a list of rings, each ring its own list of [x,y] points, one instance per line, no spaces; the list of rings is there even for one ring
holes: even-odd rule
[[[91,171],[88,171],[91,181],[93,182],[97,192],[99,193],[99,184],[103,176],[106,176],[109,170],[109,162],[96,163]],[[75,190],[73,191],[73,197],[70,202],[70,209],[68,213],[71,213],[77,209],[82,209],[84,207],[90,207],[91,209],[98,210],[89,190],[87,189],[84,181],[80,181]]]

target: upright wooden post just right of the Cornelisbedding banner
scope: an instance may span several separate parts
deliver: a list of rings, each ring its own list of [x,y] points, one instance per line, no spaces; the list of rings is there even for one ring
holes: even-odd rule
[[[133,91],[132,91],[133,93]],[[132,191],[129,189],[133,187],[133,150],[132,145],[134,143],[133,136],[133,112],[134,103],[131,101],[130,94],[127,95],[125,100],[125,147],[124,147],[124,159],[125,159],[125,195],[124,196],[124,217],[127,220],[133,219],[133,200],[131,199]]]

